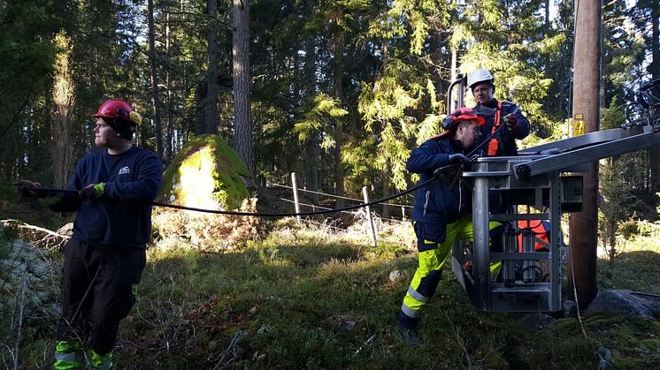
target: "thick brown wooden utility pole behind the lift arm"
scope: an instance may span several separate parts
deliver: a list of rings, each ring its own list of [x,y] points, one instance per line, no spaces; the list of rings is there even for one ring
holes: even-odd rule
[[[575,2],[573,119],[583,119],[584,132],[595,132],[600,128],[601,7],[601,0]],[[576,121],[579,122],[579,119]],[[583,175],[582,212],[572,214],[569,222],[571,259],[568,288],[572,291],[575,284],[580,309],[586,309],[597,293],[598,162],[591,163],[589,171]]]

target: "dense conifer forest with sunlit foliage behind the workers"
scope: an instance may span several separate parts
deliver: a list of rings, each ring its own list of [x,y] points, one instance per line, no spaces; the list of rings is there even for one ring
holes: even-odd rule
[[[635,119],[638,88],[660,78],[658,3],[602,4],[602,85],[590,97],[602,129]],[[142,114],[137,143],[165,165],[191,138],[217,133],[257,185],[295,172],[311,191],[359,199],[369,186],[386,197],[413,185],[405,160],[439,131],[457,73],[493,72],[495,97],[533,125],[521,147],[570,135],[577,4],[0,0],[0,193],[20,178],[63,187],[97,150],[91,115],[121,98]],[[599,235],[612,256],[657,220],[659,156],[601,162]]]

